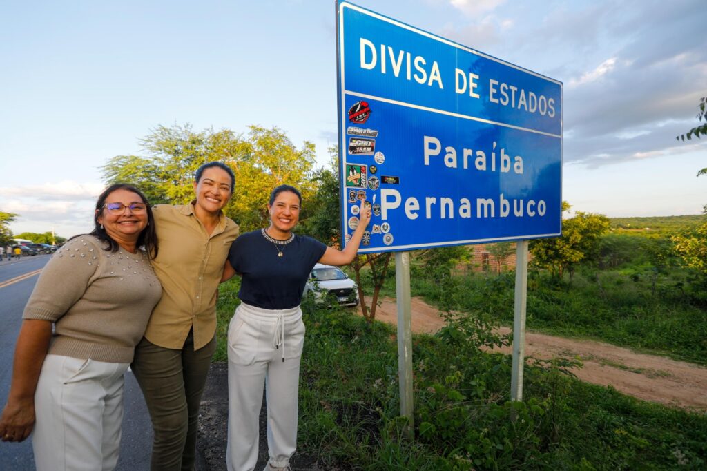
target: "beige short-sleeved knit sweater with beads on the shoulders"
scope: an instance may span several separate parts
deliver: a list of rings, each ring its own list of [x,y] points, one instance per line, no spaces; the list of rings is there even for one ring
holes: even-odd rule
[[[105,248],[93,236],[74,238],[42,270],[22,317],[54,322],[49,354],[132,361],[162,288],[142,250]]]

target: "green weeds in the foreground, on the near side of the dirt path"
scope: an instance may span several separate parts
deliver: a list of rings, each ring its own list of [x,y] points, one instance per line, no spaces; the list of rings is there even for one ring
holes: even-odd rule
[[[233,306],[224,291],[233,289],[223,286],[218,301],[228,311]],[[298,450],[316,457],[319,467],[595,470],[707,464],[707,417],[582,383],[568,374],[578,364],[573,360],[531,361],[524,401],[511,402],[510,356],[479,349],[508,340],[494,336],[493,322],[479,322],[476,313],[449,316],[438,335],[414,336],[415,427],[409,439],[407,421],[399,416],[393,328],[339,308],[305,303],[303,313]],[[219,332],[223,344],[225,330]]]

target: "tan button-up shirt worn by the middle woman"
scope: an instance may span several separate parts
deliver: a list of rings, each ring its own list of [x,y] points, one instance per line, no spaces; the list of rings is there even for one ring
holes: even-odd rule
[[[216,332],[216,293],[238,224],[221,214],[214,232],[194,214],[194,206],[158,204],[152,209],[159,252],[152,264],[162,298],[152,311],[145,337],[168,349],[181,349],[194,327],[194,349]]]

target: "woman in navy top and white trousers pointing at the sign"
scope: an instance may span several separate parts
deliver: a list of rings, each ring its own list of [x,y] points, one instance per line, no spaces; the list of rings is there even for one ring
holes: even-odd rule
[[[317,262],[351,263],[370,221],[361,202],[360,222],[344,250],[296,236],[302,197],[276,187],[268,204],[270,226],[233,242],[223,279],[243,277],[240,306],[228,326],[229,471],[251,471],[258,454],[258,416],[266,385],[268,450],[265,470],[289,469],[297,443],[297,391],[305,326],[300,301]]]

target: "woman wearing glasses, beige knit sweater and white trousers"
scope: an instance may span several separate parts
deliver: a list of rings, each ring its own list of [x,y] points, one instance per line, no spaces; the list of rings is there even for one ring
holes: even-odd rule
[[[123,373],[162,294],[144,194],[108,187],[93,221],[93,231],[66,242],[37,280],[0,417],[3,441],[23,441],[34,429],[39,471],[115,468]]]

